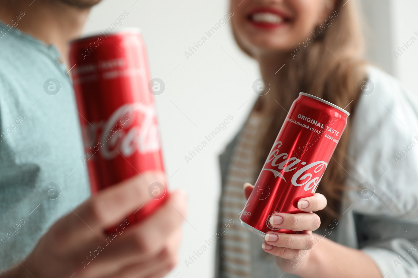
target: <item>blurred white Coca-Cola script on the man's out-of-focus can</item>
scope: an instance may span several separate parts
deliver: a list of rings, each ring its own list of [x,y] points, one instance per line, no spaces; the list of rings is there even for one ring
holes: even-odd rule
[[[92,123],[87,128],[83,162],[97,152],[105,159],[112,159],[117,155],[130,157],[136,151],[145,154],[160,149],[157,120],[151,105],[122,105],[106,122]]]

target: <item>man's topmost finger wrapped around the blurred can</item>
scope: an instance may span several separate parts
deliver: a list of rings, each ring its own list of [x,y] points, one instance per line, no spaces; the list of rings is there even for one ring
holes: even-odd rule
[[[61,218],[51,229],[53,238],[63,248],[83,244],[83,239],[101,236],[151,199],[148,188],[153,183],[165,184],[161,172],[145,172],[99,192]],[[57,247],[59,248],[59,247]]]

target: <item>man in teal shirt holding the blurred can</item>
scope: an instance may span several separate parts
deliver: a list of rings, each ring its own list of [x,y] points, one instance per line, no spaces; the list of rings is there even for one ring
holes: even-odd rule
[[[182,192],[110,243],[103,232],[150,200],[162,173],[89,198],[68,50],[98,2],[0,0],[0,278],[154,278],[175,263]]]

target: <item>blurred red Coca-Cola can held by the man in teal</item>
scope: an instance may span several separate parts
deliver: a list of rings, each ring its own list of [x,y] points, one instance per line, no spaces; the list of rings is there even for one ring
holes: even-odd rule
[[[76,40],[70,63],[85,146],[81,159],[87,163],[92,194],[145,171],[163,172],[148,58],[139,30]],[[152,200],[129,215],[129,223],[143,220],[167,199],[164,185],[149,189]]]

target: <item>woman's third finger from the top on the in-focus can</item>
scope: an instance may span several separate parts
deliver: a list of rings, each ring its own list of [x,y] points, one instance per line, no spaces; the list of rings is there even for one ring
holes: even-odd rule
[[[264,240],[269,245],[301,250],[311,249],[315,243],[312,233],[287,234],[268,232]]]

